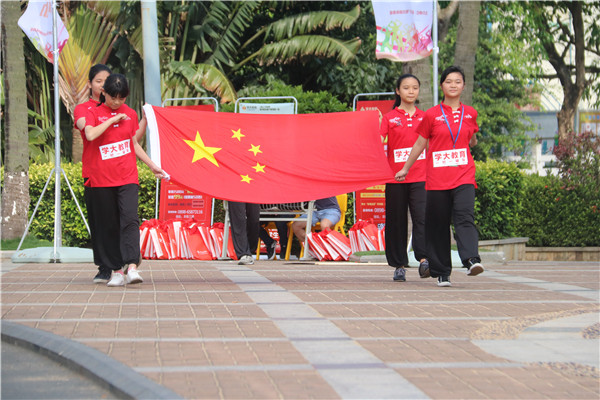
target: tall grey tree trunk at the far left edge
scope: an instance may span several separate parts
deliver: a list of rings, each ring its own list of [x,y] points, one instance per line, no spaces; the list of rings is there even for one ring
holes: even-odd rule
[[[5,159],[2,189],[2,239],[19,238],[29,210],[29,132],[23,31],[17,21],[21,3],[2,2],[2,54],[5,94]]]

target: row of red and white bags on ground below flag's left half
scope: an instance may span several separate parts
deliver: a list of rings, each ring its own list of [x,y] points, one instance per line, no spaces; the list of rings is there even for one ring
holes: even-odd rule
[[[224,225],[212,226],[194,220],[150,219],[140,226],[142,258],[153,260],[215,260],[223,251]],[[229,232],[227,256],[237,260]]]

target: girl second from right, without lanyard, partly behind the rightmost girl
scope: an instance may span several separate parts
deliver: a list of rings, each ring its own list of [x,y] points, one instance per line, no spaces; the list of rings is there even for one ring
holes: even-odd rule
[[[387,137],[388,162],[394,173],[400,171],[417,140],[417,126],[425,114],[415,106],[421,82],[411,74],[405,74],[396,82],[396,101],[393,109],[383,116],[379,133]],[[425,177],[426,152],[415,161],[410,173],[402,183],[385,185],[385,257],[394,267],[394,281],[406,281],[408,266],[408,209],[412,219],[412,247],[420,263],[420,270],[427,264],[425,258]]]

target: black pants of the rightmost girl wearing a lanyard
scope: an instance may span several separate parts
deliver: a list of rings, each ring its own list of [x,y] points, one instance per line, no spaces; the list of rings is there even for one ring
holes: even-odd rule
[[[474,185],[427,191],[425,237],[432,277],[450,276],[452,272],[450,223],[454,225],[454,238],[463,265],[466,266],[470,258],[479,259],[479,234],[475,227],[474,209]]]

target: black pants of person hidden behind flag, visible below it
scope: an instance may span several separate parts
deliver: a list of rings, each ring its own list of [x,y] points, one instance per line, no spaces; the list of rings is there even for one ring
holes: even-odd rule
[[[231,220],[231,239],[235,254],[251,256],[258,244],[258,228],[260,221],[260,206],[252,203],[228,203]]]

